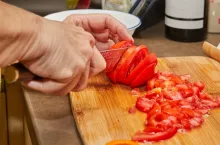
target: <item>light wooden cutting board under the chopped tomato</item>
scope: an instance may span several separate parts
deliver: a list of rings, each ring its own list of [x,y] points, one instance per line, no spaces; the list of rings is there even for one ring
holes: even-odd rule
[[[220,95],[220,63],[207,57],[159,58],[160,71],[191,74],[192,80],[201,80],[211,95]],[[136,97],[124,85],[112,84],[105,74],[92,78],[82,92],[71,92],[72,112],[85,145],[105,145],[111,140],[130,140],[143,129],[145,115],[129,114]],[[146,145],[151,143],[146,143]],[[173,138],[153,143],[155,145],[219,145],[220,109],[211,111],[202,127],[186,134],[177,133]]]

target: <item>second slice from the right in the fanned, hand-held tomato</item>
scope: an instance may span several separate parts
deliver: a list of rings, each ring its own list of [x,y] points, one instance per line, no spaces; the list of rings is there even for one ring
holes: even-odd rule
[[[147,55],[132,71],[127,77],[126,83],[131,84],[137,76],[150,64],[157,63],[157,57],[155,53]]]

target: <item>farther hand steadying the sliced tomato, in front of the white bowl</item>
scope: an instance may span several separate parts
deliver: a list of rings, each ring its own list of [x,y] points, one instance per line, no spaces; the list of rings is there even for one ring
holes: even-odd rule
[[[125,25],[111,15],[90,14],[70,15],[65,23],[82,27],[95,38],[95,45],[99,50],[110,48],[114,43],[123,40],[132,40]]]

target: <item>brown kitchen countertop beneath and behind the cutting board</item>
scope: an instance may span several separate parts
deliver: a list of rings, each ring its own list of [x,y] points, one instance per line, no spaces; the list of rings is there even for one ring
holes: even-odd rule
[[[205,56],[202,42],[180,43],[166,39],[163,23],[143,31],[134,39],[137,45],[147,45],[158,57]],[[217,46],[220,34],[208,34],[207,41]],[[51,96],[24,89],[24,97],[33,145],[82,144],[67,96]]]

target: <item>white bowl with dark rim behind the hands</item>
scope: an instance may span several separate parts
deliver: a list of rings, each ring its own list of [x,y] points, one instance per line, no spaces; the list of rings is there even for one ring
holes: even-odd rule
[[[141,25],[141,20],[134,15],[119,11],[99,9],[67,10],[49,14],[45,16],[45,18],[49,20],[63,21],[67,16],[71,14],[110,14],[128,28],[130,35],[133,35],[135,29]]]

